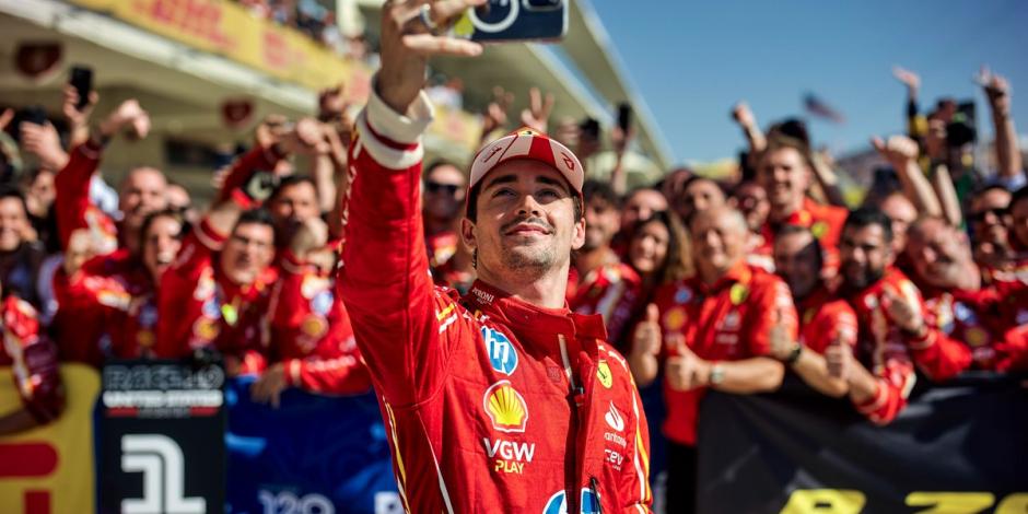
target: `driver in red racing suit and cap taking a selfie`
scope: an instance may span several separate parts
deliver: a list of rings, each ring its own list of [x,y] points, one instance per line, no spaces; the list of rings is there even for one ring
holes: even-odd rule
[[[574,154],[530,130],[487,144],[460,231],[478,282],[457,299],[429,276],[425,61],[481,47],[433,36],[424,20],[472,3],[386,2],[382,69],[350,145],[357,175],[337,280],[400,498],[408,512],[649,512],[649,436],[631,374],[604,342],[601,318],[564,300],[585,233]]]

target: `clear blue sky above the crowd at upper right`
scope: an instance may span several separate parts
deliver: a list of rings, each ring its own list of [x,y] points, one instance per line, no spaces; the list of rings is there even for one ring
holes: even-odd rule
[[[762,127],[802,114],[804,92],[841,110],[845,125],[811,120],[837,153],[874,133],[903,130],[906,91],[892,65],[921,74],[922,107],[943,95],[976,98],[982,63],[1014,87],[1018,132],[1028,132],[1028,2],[592,0],[630,80],[679,161],[734,155],[744,140],[728,113],[747,100]]]

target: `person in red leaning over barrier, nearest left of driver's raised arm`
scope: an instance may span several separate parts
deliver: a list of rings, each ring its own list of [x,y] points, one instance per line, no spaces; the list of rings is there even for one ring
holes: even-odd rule
[[[371,388],[350,317],[335,294],[338,246],[328,242],[325,222],[313,218],[284,249],[271,299],[272,364],[250,388],[255,400],[277,406],[287,387],[329,395]]]

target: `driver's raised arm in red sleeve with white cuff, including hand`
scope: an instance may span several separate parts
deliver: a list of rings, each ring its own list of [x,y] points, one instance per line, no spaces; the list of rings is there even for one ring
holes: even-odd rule
[[[444,23],[471,4],[436,2],[431,14]],[[430,34],[420,9],[383,8],[382,69],[350,144],[357,176],[337,279],[358,347],[378,393],[393,405],[434,393],[442,375],[436,370],[445,367],[419,199],[421,135],[432,120],[421,92],[427,60],[431,54],[481,52],[478,44]]]

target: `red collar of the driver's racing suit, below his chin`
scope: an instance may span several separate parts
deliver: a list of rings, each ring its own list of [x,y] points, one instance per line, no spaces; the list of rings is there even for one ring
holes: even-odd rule
[[[569,339],[607,339],[603,316],[572,313],[566,302],[561,308],[540,307],[481,280],[475,281],[464,300],[471,311],[480,311],[515,332],[572,336]],[[546,339],[552,339],[556,344],[556,338]]]

